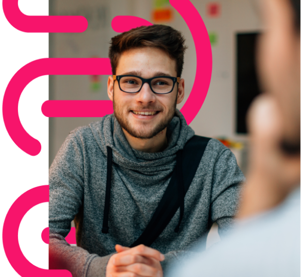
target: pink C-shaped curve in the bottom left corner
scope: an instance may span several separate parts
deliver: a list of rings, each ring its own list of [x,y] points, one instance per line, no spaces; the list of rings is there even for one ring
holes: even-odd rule
[[[45,270],[37,264],[28,262],[19,245],[19,227],[24,215],[32,207],[49,202],[49,186],[39,185],[20,195],[1,218],[1,237],[5,255],[14,271],[22,277],[72,277],[67,270]],[[3,233],[2,233],[3,232]],[[2,241],[2,239],[1,239]]]

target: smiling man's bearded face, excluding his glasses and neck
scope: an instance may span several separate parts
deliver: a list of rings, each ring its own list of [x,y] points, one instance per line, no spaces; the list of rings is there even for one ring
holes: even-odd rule
[[[175,61],[164,51],[154,47],[130,49],[121,54],[117,68],[118,75],[136,75],[143,78],[155,76],[176,76]],[[132,137],[151,139],[163,131],[174,117],[176,104],[184,97],[184,80],[167,94],[155,94],[147,83],[140,92],[127,93],[119,89],[118,82],[108,80],[108,95],[113,101],[114,114],[121,127]],[[140,112],[153,115],[137,114]]]

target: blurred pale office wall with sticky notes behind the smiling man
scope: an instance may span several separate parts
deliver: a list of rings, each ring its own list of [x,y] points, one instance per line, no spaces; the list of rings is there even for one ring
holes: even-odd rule
[[[202,16],[212,47],[213,69],[203,107],[190,123],[197,135],[220,138],[237,156],[245,172],[248,135],[245,114],[258,94],[254,72],[254,45],[262,22],[254,0],[190,0]],[[107,58],[116,15],[135,15],[182,31],[188,50],[182,77],[185,99],[196,71],[196,54],[189,28],[168,0],[51,0],[49,15],[83,15],[89,26],[83,33],[49,33],[49,58]],[[201,65],[200,65],[201,66]],[[49,100],[109,100],[108,76],[49,76]],[[98,118],[49,119],[49,166],[74,128]]]

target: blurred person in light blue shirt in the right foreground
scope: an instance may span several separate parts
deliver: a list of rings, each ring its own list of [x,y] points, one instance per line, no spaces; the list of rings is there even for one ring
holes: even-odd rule
[[[250,172],[237,230],[170,277],[301,276],[301,1],[263,0]],[[219,266],[216,266],[218,264]]]

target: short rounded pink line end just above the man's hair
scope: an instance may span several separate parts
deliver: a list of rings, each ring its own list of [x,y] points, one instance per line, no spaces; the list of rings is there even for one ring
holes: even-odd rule
[[[115,16],[111,22],[112,29],[115,32],[119,32],[119,33],[126,32],[140,26],[151,26],[151,25],[153,24],[141,17],[130,16],[130,15]]]

